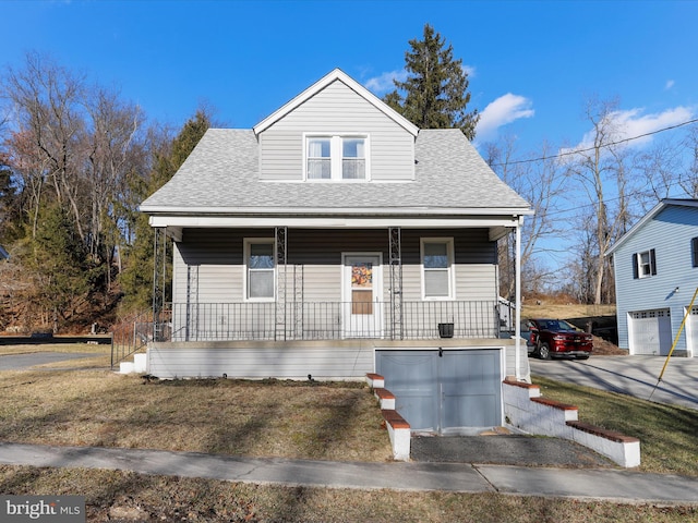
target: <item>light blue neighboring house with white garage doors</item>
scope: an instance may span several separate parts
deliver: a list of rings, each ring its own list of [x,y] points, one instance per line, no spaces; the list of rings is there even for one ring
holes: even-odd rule
[[[609,251],[613,256],[618,346],[669,354],[698,288],[698,200],[663,199]],[[698,355],[698,300],[674,355]]]

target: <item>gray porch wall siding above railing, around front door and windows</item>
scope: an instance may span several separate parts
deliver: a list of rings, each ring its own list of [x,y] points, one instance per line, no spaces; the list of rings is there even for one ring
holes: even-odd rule
[[[486,230],[404,230],[404,300],[421,301],[421,238],[454,238],[456,300],[496,301],[496,245]],[[173,301],[230,303],[244,300],[245,238],[274,238],[272,229],[186,229],[173,256]],[[288,232],[287,295],[302,282],[306,302],[341,300],[342,253],[382,253],[383,297],[389,299],[388,232],[298,229]]]

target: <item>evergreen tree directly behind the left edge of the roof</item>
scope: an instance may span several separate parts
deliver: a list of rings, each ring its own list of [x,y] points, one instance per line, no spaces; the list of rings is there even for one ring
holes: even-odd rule
[[[171,143],[156,147],[153,155],[153,170],[147,183],[139,183],[132,190],[142,195],[142,199],[167,183],[184,163],[204,133],[212,126],[209,114],[200,109],[179,132]],[[148,223],[148,217],[139,212],[134,218],[135,238],[125,253],[125,268],[119,281],[124,293],[123,307],[127,311],[148,308],[153,299],[154,242],[155,233]],[[167,260],[168,277],[171,275],[171,259]],[[169,287],[169,285],[167,285]]]

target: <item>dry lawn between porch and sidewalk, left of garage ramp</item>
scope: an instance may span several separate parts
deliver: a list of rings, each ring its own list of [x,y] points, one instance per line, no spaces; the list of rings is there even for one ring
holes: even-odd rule
[[[149,381],[109,370],[3,373],[0,440],[320,460],[392,451],[363,384]]]

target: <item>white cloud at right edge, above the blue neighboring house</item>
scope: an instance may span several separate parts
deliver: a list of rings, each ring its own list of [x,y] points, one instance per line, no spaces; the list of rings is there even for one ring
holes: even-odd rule
[[[678,106],[666,109],[663,112],[642,114],[643,109],[635,108],[625,111],[613,111],[600,124],[606,127],[605,143],[618,143],[622,147],[641,147],[652,141],[652,134],[662,129],[671,127],[691,120],[696,113],[693,108]],[[558,154],[569,155],[575,150],[583,150],[593,147],[594,131],[588,131],[581,142],[574,147],[562,148]],[[633,138],[633,139],[630,139]]]

